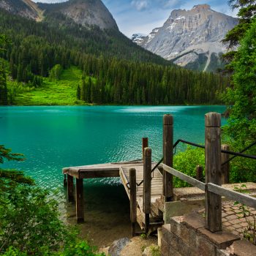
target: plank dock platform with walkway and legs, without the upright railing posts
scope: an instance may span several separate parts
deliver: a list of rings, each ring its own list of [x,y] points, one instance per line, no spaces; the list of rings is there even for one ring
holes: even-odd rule
[[[151,163],[153,168],[156,165],[155,162]],[[131,199],[131,187],[129,170],[135,169],[136,174],[136,222],[143,230],[154,230],[159,225],[162,225],[162,174],[159,169],[154,170],[151,177],[151,212],[149,214],[149,222],[146,225],[146,214],[143,211],[143,160],[135,160],[129,162],[113,162],[102,165],[85,165],[79,167],[66,167],[63,168],[63,173],[67,175],[68,197],[69,201],[76,201],[77,218],[78,222],[83,222],[83,186],[79,186],[79,180],[83,178],[109,178],[120,177],[121,182],[124,185],[124,189],[127,192],[127,196]],[[151,170],[150,170],[151,171]],[[77,190],[76,199],[73,196],[75,189],[73,184],[73,178],[76,178]],[[83,184],[83,183],[82,183]],[[80,202],[82,201],[82,202]],[[135,223],[135,222],[133,222]],[[134,227],[135,232],[135,227]]]

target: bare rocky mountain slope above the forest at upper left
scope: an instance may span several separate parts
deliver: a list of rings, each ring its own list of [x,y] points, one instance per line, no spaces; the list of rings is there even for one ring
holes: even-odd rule
[[[83,26],[116,29],[116,21],[101,0],[69,0],[60,4],[35,4],[31,0],[0,0],[0,8],[15,15],[40,21],[44,14],[51,17],[64,15]]]

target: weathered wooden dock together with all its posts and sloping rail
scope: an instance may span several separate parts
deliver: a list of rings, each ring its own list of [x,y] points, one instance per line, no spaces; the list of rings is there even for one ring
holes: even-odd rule
[[[68,200],[76,202],[78,222],[84,221],[84,178],[121,178],[130,202],[132,236],[136,233],[136,223],[145,233],[154,231],[163,224],[164,206],[172,204],[168,202],[175,200],[176,197],[177,189],[173,189],[173,176],[203,191],[206,201],[206,228],[212,233],[222,230],[222,196],[256,208],[255,197],[222,187],[222,184],[229,183],[229,154],[251,159],[255,159],[255,156],[228,151],[227,145],[221,146],[220,127],[220,114],[207,113],[204,146],[205,183],[202,181],[203,169],[200,166],[196,168],[197,178],[173,169],[173,116],[170,115],[165,115],[163,118],[163,158],[158,163],[152,162],[148,139],[143,138],[142,160],[63,168],[64,184],[67,184],[68,188]],[[194,146],[196,146],[195,143]]]

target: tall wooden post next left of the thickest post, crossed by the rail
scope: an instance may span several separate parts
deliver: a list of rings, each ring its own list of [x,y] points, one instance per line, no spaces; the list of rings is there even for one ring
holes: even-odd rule
[[[163,118],[163,163],[173,167],[173,116],[165,115]],[[173,176],[163,171],[163,191],[165,202],[173,199]]]

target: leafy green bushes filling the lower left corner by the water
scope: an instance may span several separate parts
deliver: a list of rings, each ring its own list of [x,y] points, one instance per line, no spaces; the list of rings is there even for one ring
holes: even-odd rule
[[[22,161],[22,156],[0,147],[1,163]],[[22,172],[0,169],[1,255],[99,256],[96,248],[80,241],[77,231],[59,219],[54,197]]]

